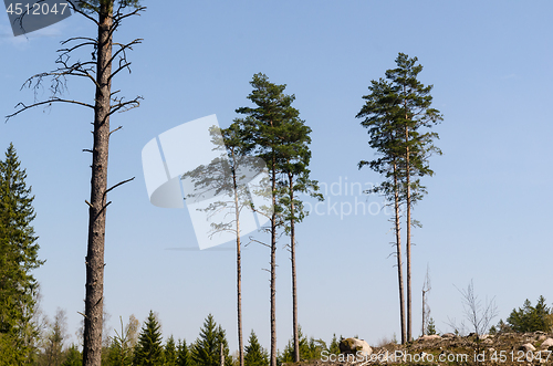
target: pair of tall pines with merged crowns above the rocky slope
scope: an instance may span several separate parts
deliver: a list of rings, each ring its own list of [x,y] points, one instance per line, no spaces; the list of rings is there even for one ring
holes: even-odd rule
[[[411,218],[413,206],[426,192],[420,184],[420,177],[431,176],[428,158],[432,154],[441,154],[434,145],[438,134],[424,132],[440,121],[439,111],[431,108],[432,85],[425,86],[417,80],[422,66],[417,64],[417,57],[399,53],[396,69],[386,71],[387,81],[373,81],[372,92],[364,96],[366,103],[357,117],[364,117],[362,123],[369,128],[372,140],[369,145],[382,157],[373,161],[361,161],[359,168],[369,165],[374,170],[385,175],[386,181],[373,189],[393,197],[395,206],[396,255],[398,259],[399,297],[401,313],[401,342],[411,339],[411,227],[417,221]],[[401,245],[399,234],[399,207],[406,207],[406,307],[403,310],[403,273]],[[406,325],[404,326],[404,318]]]

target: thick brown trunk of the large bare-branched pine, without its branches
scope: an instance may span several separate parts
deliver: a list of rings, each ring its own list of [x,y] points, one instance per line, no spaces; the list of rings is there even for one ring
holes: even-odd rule
[[[100,2],[96,96],[94,108],[94,145],[92,157],[91,201],[88,208],[88,248],[86,254],[86,297],[84,318],[83,366],[100,366],[104,291],[104,241],[106,221],[107,157],[112,74],[111,1]]]

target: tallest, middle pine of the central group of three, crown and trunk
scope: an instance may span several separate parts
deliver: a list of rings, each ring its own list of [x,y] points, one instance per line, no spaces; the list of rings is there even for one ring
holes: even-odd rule
[[[271,320],[271,354],[270,365],[276,366],[276,237],[278,229],[282,224],[282,208],[279,205],[279,190],[281,189],[278,178],[283,171],[282,153],[284,149],[283,138],[286,124],[299,117],[296,108],[292,107],[293,95],[284,94],[286,85],[276,85],[269,81],[267,75],[258,73],[250,82],[253,91],[248,95],[255,106],[241,107],[236,112],[246,115],[237,119],[252,136],[252,154],[262,158],[268,167],[271,185],[271,209],[265,211],[270,221],[269,231],[271,238],[267,244],[271,250],[270,260],[270,320]],[[255,208],[263,213],[260,208]]]

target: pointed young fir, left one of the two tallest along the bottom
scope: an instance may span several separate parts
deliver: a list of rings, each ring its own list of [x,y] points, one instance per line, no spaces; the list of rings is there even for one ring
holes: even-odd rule
[[[157,366],[164,365],[164,348],[161,346],[160,325],[153,311],[149,311],[148,318],[138,336],[134,362],[136,366]]]

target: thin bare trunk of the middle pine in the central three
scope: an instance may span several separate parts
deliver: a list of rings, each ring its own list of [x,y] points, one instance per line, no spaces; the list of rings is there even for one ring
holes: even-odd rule
[[[271,218],[271,363],[276,366],[276,159],[272,158],[272,205]]]

